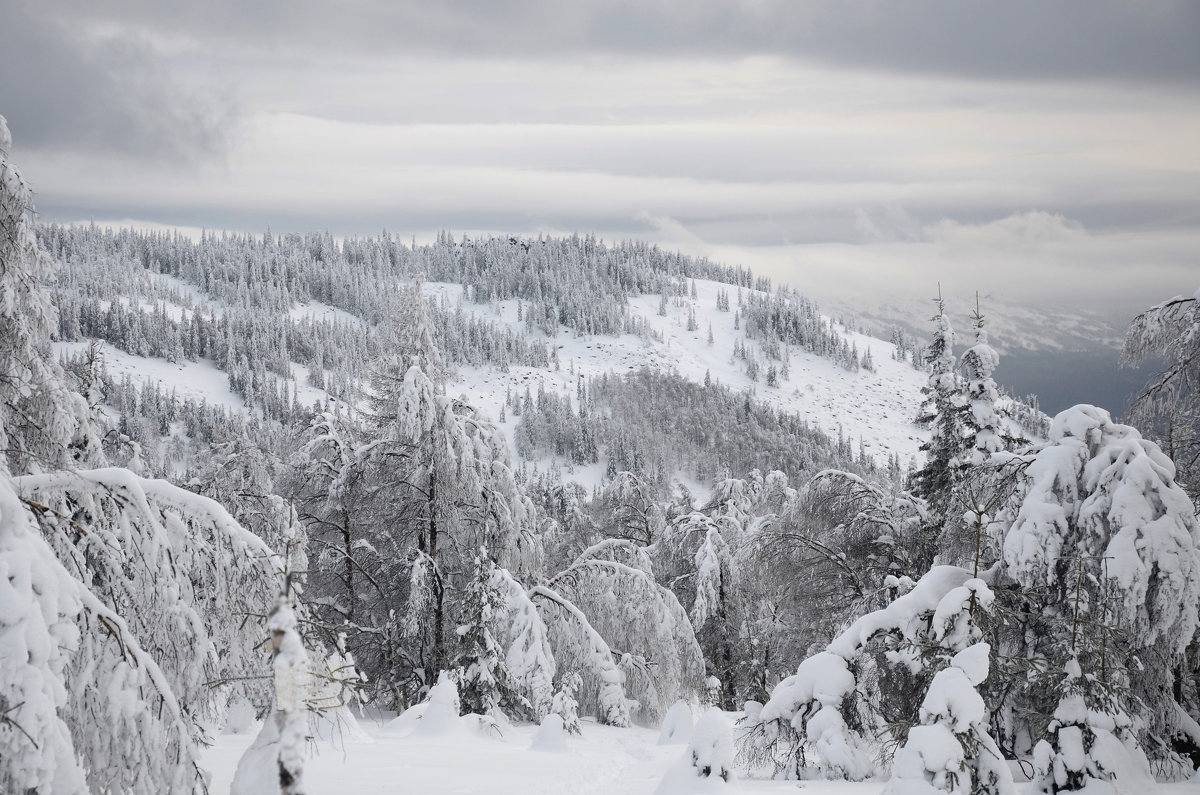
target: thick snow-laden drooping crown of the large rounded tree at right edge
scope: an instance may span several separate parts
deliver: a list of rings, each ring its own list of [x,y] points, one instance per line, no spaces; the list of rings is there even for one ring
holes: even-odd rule
[[[1066,587],[1062,562],[1085,558],[1118,587],[1115,620],[1139,646],[1183,650],[1198,624],[1200,522],[1157,444],[1094,406],[1055,417],[1002,525],[1007,572],[1026,587]]]

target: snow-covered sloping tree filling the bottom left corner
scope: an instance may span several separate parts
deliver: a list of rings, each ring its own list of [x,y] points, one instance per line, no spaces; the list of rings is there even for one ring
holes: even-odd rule
[[[203,705],[178,698],[180,673],[168,676],[65,563],[77,561],[55,555],[0,473],[0,789],[203,791]],[[121,609],[136,614],[137,605]]]

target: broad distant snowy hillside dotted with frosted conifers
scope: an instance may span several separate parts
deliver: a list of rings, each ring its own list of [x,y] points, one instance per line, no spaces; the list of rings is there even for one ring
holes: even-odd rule
[[[911,348],[896,354],[892,342],[817,316],[802,297],[772,292],[745,271],[636,244],[446,239],[421,250],[390,239],[356,244],[379,246],[370,255],[370,247],[356,252],[349,245],[338,251],[328,238],[206,238],[197,245],[83,228],[47,234],[64,263],[55,353],[79,371],[89,340],[101,340],[102,379],[112,384],[106,391],[120,393],[116,413],[142,413],[142,404],[172,395],[286,423],[341,401],[361,407],[377,331],[394,295],[426,274],[436,337],[452,373],[448,390],[498,422],[518,461],[524,460],[518,423],[503,411],[506,401],[548,393],[578,411],[592,379],[643,369],[746,395],[838,440],[840,450],[851,452],[844,458],[876,466],[918,460],[928,437],[912,422],[925,375],[907,360]],[[401,265],[379,268],[374,263],[383,256]],[[527,275],[532,268],[541,271],[535,279]],[[670,275],[671,269],[698,275]],[[331,279],[334,273],[340,279]],[[432,277],[451,273],[461,276]],[[792,325],[764,325],[780,312]],[[479,347],[484,342],[486,351]],[[146,388],[161,395],[134,394]],[[593,464],[574,465],[556,461],[552,450],[524,454],[540,471],[562,468],[566,479],[588,488],[605,473],[604,450]],[[695,494],[706,492],[715,474],[697,480],[682,462],[674,466],[672,477]],[[186,461],[163,464],[163,471],[184,468]]]

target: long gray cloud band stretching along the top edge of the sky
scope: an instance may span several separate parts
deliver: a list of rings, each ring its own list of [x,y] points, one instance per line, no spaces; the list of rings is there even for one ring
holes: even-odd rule
[[[169,36],[454,56],[776,54],[983,78],[1200,82],[1192,0],[70,0]]]

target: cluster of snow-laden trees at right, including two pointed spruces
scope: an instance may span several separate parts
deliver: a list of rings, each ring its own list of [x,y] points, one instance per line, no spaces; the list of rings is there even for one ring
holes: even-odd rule
[[[983,316],[961,369],[941,299],[934,325],[912,494],[818,478],[824,522],[875,542],[817,552],[856,585],[839,615],[862,617],[832,622],[824,650],[749,710],[748,759],[858,779],[899,742],[894,793],[1010,793],[998,763],[1013,757],[1032,757],[1044,793],[1136,788],[1152,763],[1189,771],[1200,522],[1175,465],[1092,406],[1016,438]]]

